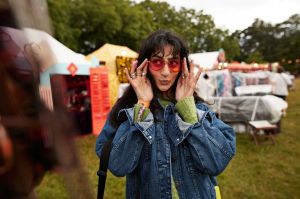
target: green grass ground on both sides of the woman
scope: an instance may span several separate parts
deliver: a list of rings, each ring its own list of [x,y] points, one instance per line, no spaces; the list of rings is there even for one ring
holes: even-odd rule
[[[289,108],[276,145],[255,146],[247,134],[237,135],[237,154],[218,176],[223,199],[300,198],[300,79],[296,79],[296,90],[290,92],[287,100]],[[69,190],[77,192],[76,198],[85,198],[75,188],[78,184],[88,186],[96,198],[99,161],[94,152],[95,140],[93,135],[76,140],[86,175],[66,183],[68,178],[60,173],[48,173],[37,188],[37,195],[42,199],[70,198]],[[71,184],[71,188],[65,184]],[[105,198],[125,198],[125,179],[109,174]]]

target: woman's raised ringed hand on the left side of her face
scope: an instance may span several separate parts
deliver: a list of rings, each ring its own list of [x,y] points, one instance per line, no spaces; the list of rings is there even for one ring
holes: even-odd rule
[[[146,77],[149,61],[145,59],[141,65],[137,67],[137,61],[132,64],[130,73],[125,68],[127,79],[133,87],[138,100],[150,102],[153,98],[153,91],[150,80]]]

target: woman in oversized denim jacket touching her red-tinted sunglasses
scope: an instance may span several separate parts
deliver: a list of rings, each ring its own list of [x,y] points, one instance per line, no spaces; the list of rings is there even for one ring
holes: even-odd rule
[[[126,175],[126,198],[216,198],[215,176],[235,154],[231,127],[196,96],[200,76],[175,34],[158,30],[142,44],[96,143],[101,155],[113,137],[108,168]]]

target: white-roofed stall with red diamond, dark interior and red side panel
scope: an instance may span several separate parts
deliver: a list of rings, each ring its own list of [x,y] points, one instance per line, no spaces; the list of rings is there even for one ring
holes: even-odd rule
[[[109,111],[108,89],[104,89],[108,87],[108,78],[105,78],[108,72],[105,67],[98,72],[98,76],[101,77],[101,88],[97,87],[101,99],[104,100],[92,102],[91,98],[95,95],[93,92],[95,88],[90,86],[92,63],[87,61],[85,56],[72,51],[43,31],[30,28],[25,28],[24,31],[13,28],[3,30],[19,49],[18,56],[24,56],[25,60],[39,70],[40,96],[47,107],[53,110],[57,103],[63,103],[73,116],[81,134],[92,131],[99,133],[99,126],[103,125],[101,121]],[[18,34],[26,35],[26,43],[18,41],[20,38]],[[100,109],[94,111],[95,107]],[[92,113],[99,111],[101,120],[99,117],[92,117]]]

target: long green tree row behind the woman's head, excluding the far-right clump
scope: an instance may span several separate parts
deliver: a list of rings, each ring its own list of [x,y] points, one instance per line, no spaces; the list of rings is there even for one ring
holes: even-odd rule
[[[215,27],[212,16],[166,2],[145,0],[48,0],[55,37],[75,51],[87,54],[105,43],[138,50],[152,31],[168,29],[185,38],[191,52],[224,48],[238,56],[237,39]],[[228,51],[228,52],[227,52]]]

